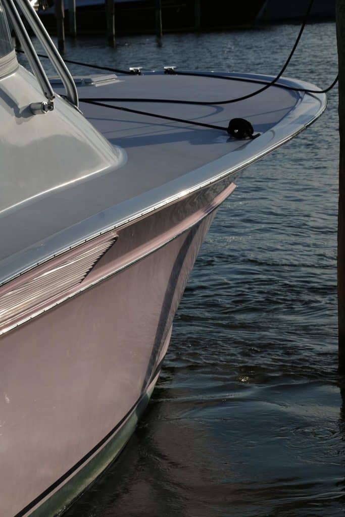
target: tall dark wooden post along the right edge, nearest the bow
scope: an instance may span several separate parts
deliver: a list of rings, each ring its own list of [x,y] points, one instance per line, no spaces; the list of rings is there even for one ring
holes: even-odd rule
[[[345,372],[345,0],[336,2],[339,62],[338,328],[339,370]]]

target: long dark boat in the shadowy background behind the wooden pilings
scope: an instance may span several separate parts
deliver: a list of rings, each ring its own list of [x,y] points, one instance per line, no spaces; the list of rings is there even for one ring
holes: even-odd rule
[[[161,0],[163,32],[250,27],[263,4],[264,0],[247,0],[245,3],[200,0],[200,14],[197,16],[195,0]],[[64,0],[64,7],[65,31],[68,33],[68,0]],[[116,34],[155,34],[155,8],[154,0],[115,0]],[[56,31],[53,7],[41,8],[38,14],[50,33]],[[107,22],[104,0],[76,0],[76,22],[78,34],[104,33]]]

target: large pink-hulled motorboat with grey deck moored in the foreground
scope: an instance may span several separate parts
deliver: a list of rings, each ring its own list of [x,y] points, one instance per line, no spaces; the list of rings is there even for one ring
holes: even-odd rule
[[[169,64],[72,78],[28,0],[17,5],[0,0],[0,513],[53,517],[136,428],[236,178],[313,123],[326,96]]]

